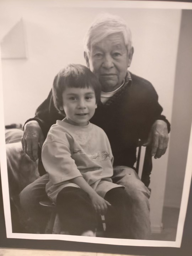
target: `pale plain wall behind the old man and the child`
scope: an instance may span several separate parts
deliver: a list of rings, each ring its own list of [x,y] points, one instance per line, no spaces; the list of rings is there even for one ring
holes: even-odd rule
[[[42,1],[0,2],[0,38],[23,18],[28,59],[2,60],[5,124],[24,123],[46,98],[55,74],[68,63],[85,64],[82,39],[101,11],[117,14],[132,30],[135,49],[130,71],[148,79],[171,119],[180,10],[47,7]],[[45,1],[43,1],[46,3]],[[167,170],[166,154],[154,161],[151,223],[161,224]]]

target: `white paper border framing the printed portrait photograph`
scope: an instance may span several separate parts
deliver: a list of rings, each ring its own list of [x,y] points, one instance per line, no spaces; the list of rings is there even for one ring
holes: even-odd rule
[[[50,1],[48,4],[55,6],[63,1]],[[111,8],[147,8],[147,9],[192,9],[192,3],[187,2],[163,2],[163,1],[105,1],[105,0],[92,0],[92,1],[65,1],[66,7],[111,7]],[[1,53],[0,53],[1,57]],[[38,240],[65,240],[76,242],[89,242],[96,244],[108,245],[126,245],[126,246],[150,246],[150,247],[180,247],[182,241],[183,227],[187,212],[187,203],[190,192],[191,177],[192,177],[192,130],[190,135],[190,142],[188,148],[187,165],[185,172],[185,180],[183,184],[181,210],[178,219],[176,241],[154,241],[154,240],[132,240],[132,239],[112,239],[112,238],[91,238],[84,236],[71,236],[71,235],[58,235],[58,234],[20,234],[12,233],[11,225],[11,210],[9,199],[9,184],[7,175],[7,162],[5,150],[5,125],[4,125],[4,105],[3,105],[3,85],[2,85],[2,69],[0,58],[0,165],[1,165],[1,181],[3,191],[3,203],[5,213],[6,235],[7,238],[19,239],[38,239]]]

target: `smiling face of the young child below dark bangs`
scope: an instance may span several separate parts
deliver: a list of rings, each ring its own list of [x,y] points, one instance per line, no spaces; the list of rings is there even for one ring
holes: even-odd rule
[[[63,106],[66,119],[70,124],[86,126],[97,108],[94,89],[91,87],[66,87],[63,94]]]

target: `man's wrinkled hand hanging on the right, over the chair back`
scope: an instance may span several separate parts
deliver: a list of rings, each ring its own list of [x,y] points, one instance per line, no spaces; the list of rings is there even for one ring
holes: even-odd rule
[[[167,124],[163,120],[156,120],[151,127],[149,137],[143,146],[151,145],[151,155],[155,159],[165,154],[169,142]]]

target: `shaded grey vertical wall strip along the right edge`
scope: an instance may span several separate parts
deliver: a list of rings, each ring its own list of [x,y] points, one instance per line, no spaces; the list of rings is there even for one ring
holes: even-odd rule
[[[180,207],[192,121],[192,10],[182,11],[165,206]]]

